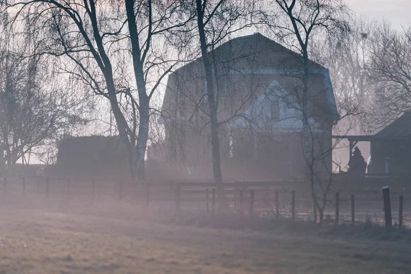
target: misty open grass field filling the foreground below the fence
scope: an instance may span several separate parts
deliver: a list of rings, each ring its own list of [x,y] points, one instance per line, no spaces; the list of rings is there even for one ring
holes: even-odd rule
[[[3,208],[0,273],[411,273],[411,247]]]

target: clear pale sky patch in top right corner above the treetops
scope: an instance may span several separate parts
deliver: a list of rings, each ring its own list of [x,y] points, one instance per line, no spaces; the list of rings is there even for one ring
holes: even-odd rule
[[[400,29],[411,22],[411,0],[345,0],[358,16],[386,19],[393,27]]]

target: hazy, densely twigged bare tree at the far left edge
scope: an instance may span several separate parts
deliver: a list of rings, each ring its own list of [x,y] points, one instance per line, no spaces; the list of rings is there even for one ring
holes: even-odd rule
[[[0,140],[10,168],[18,160],[28,164],[32,151],[84,125],[88,99],[53,86],[47,60],[24,58],[35,49],[29,40],[12,34],[15,29],[10,29],[7,21],[5,16],[1,32],[5,39],[0,44]]]

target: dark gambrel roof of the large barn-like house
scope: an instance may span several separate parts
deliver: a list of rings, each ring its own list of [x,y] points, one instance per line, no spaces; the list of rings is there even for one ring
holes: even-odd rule
[[[260,33],[228,40],[216,47],[214,51],[209,51],[208,55],[210,58],[215,58],[216,63],[221,64],[223,73],[228,74],[301,75],[303,71],[301,54]],[[329,72],[316,62],[310,61],[309,65],[310,72],[313,75],[320,75],[323,79],[323,90],[325,90],[325,94],[322,95],[325,98],[323,108],[325,107],[327,112],[332,115],[333,121],[336,121],[338,110]],[[219,68],[217,68],[218,70]],[[179,79],[186,82],[187,75],[191,74],[203,75],[201,58],[197,58],[171,73],[162,105],[163,110],[167,108],[166,104],[171,100],[170,93],[173,92],[171,87],[179,82]]]

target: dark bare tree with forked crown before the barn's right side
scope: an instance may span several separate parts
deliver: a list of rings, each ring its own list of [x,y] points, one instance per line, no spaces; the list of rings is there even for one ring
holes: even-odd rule
[[[309,60],[309,50],[313,36],[333,36],[337,32],[347,31],[348,25],[342,16],[347,12],[347,9],[343,2],[331,0],[275,0],[274,3],[274,9],[271,10],[271,12],[274,12],[276,15],[276,20],[273,21],[270,16],[267,16],[269,28],[276,36],[281,38],[286,45],[301,53],[299,62],[302,68],[302,89],[301,92],[295,92],[295,94],[297,95],[299,105],[301,105],[303,153],[308,166],[307,179],[310,182],[314,204],[316,208],[319,209],[320,221],[322,221],[326,200],[323,199],[321,204],[317,195],[316,186],[320,186],[321,188],[323,188],[323,186],[321,180],[319,180],[319,176],[315,173],[314,166],[317,162],[316,159],[321,159],[324,155],[321,156],[322,153],[317,155],[318,153],[315,153],[315,150],[326,150],[326,153],[330,153],[330,151],[328,151],[328,148],[318,146],[318,144],[321,144],[318,140],[321,140],[322,136],[314,134],[315,130],[310,126],[310,119],[312,119],[313,114],[308,110],[308,103],[310,101],[310,75],[312,75],[312,62]],[[270,14],[270,12],[268,14]],[[327,121],[327,123],[338,121],[338,117],[335,116],[333,120],[334,121]]]

